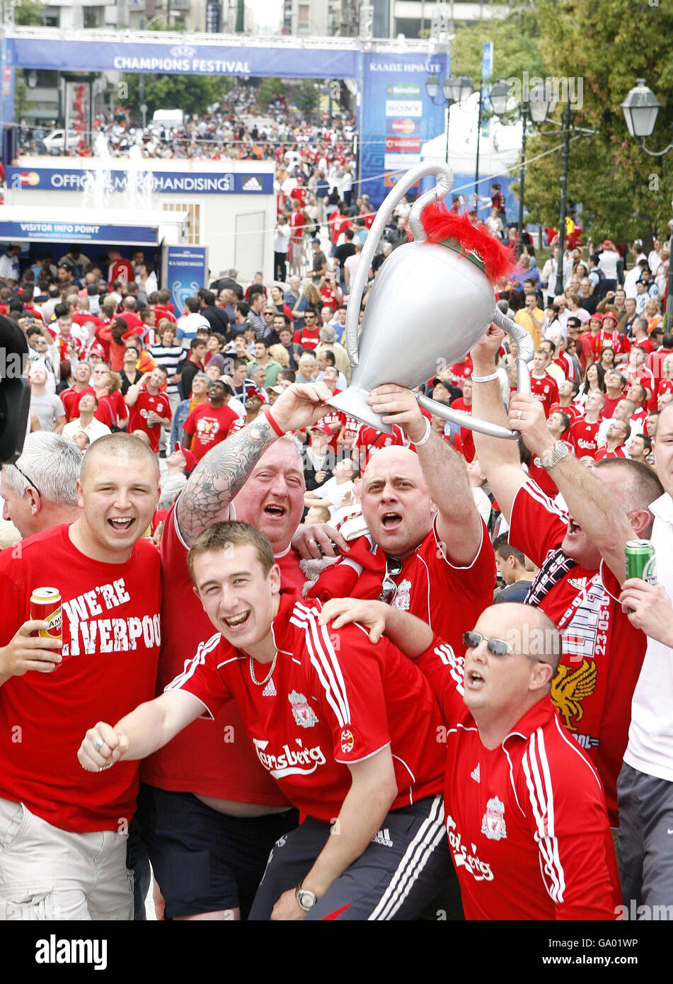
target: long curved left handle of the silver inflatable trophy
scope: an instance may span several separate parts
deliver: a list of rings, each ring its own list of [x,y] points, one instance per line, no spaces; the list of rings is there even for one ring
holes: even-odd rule
[[[444,161],[435,160],[432,162],[428,161],[427,163],[416,164],[409,171],[407,171],[406,174],[399,179],[395,188],[391,189],[388,193],[381,205],[381,208],[376,214],[376,218],[372,222],[372,226],[362,249],[360,262],[357,265],[357,270],[355,271],[355,276],[353,277],[350,293],[348,294],[348,304],[346,307],[345,347],[348,352],[350,364],[353,367],[355,367],[359,361],[357,349],[357,328],[360,320],[360,304],[362,303],[362,295],[364,293],[365,283],[367,282],[369,268],[372,260],[374,259],[374,252],[379,244],[383,230],[386,228],[386,222],[390,216],[393,215],[393,210],[398,202],[401,201],[409,188],[412,188],[417,181],[420,181],[421,178],[427,177],[429,174],[434,174],[437,177],[437,184],[434,188],[431,188],[430,191],[427,191],[420,196],[409,213],[409,225],[411,227],[411,231],[413,232],[414,239],[424,240],[425,230],[423,229],[420,221],[420,215],[423,209],[431,202],[441,201],[446,198],[451,189],[454,187],[454,172],[449,164]]]

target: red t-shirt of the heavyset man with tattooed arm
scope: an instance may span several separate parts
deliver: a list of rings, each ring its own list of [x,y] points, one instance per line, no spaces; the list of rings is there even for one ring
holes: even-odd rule
[[[230,519],[236,515],[230,510]],[[275,557],[283,586],[301,590],[304,576],[293,550]],[[192,590],[187,570],[187,548],[176,528],[175,509],[163,525],[161,538],[163,645],[158,667],[157,693],[184,669],[185,662],[213,625]],[[1,693],[1,691],[0,691]],[[199,719],[180,731],[164,748],[143,761],[144,782],[159,789],[198,793],[215,799],[260,806],[285,806],[286,800],[263,769],[244,733],[241,713],[229,701],[215,717],[215,724]]]

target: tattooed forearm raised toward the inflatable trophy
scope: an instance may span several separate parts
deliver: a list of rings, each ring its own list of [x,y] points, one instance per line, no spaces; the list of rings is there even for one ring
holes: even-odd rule
[[[261,413],[247,427],[215,445],[199,462],[175,507],[175,519],[187,544],[222,519],[276,436]]]

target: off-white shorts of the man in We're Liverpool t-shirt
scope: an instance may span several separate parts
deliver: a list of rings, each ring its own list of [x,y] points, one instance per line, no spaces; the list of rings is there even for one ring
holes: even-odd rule
[[[0,799],[0,921],[133,919],[126,833],[71,833]]]

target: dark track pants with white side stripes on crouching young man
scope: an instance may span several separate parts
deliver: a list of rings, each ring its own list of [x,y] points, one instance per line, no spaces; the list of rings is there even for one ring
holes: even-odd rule
[[[251,920],[270,918],[280,895],[296,888],[311,870],[330,834],[329,824],[308,817],[277,841],[255,895]],[[306,919],[416,919],[452,876],[442,797],[428,797],[389,813],[368,847]]]

